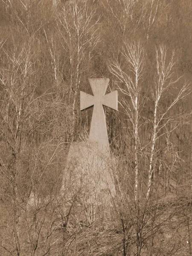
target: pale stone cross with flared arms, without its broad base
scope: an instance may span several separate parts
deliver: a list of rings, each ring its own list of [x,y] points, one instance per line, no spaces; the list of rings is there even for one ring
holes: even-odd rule
[[[93,95],[80,91],[80,109],[93,107],[89,141],[97,143],[99,150],[109,152],[109,142],[103,105],[118,110],[117,91],[105,95],[108,78],[89,79]]]

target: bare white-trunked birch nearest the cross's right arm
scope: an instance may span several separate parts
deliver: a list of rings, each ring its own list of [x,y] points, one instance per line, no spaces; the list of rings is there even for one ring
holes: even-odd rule
[[[140,91],[144,65],[144,49],[140,43],[125,43],[122,55],[125,58],[124,69],[119,65],[118,61],[112,62],[109,69],[122,84],[125,84],[124,88],[121,86],[118,86],[118,88],[125,95],[125,99],[122,100],[122,107],[131,121],[131,130],[134,137],[134,198],[137,199],[139,198]]]

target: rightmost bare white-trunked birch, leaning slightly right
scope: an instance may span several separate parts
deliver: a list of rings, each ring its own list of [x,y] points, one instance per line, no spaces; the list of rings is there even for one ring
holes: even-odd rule
[[[149,159],[149,170],[148,170],[148,187],[147,187],[147,198],[149,197],[151,186],[152,186],[152,179],[153,179],[153,163],[155,157],[155,144],[159,137],[159,131],[168,125],[169,122],[172,121],[169,114],[169,111],[177,104],[180,99],[183,99],[189,93],[189,84],[183,84],[181,89],[178,90],[177,95],[175,98],[172,99],[172,102],[169,103],[168,107],[161,112],[160,111],[160,101],[165,93],[168,93],[170,88],[174,88],[177,86],[178,81],[180,78],[175,78],[174,73],[174,53],[170,59],[167,57],[167,49],[165,47],[159,47],[156,49],[156,61],[157,61],[157,75],[154,82],[154,88],[152,87],[152,96],[154,99],[154,119],[153,119],[153,131],[151,136],[151,152],[150,152],[150,159]],[[179,114],[179,113],[178,113]],[[176,116],[175,116],[176,118]],[[163,125],[161,125],[162,120]]]

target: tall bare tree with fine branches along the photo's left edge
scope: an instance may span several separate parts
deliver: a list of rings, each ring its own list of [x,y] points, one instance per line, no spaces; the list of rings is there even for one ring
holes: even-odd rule
[[[32,46],[20,47],[13,41],[12,52],[3,47],[3,65],[0,70],[1,89],[1,137],[5,152],[1,152],[5,187],[10,186],[7,198],[11,204],[12,227],[15,236],[15,250],[21,252],[20,241],[20,203],[22,187],[28,177],[29,150],[26,145],[26,127],[32,118],[31,107],[34,103],[35,60]],[[7,154],[7,156],[6,156]],[[13,242],[14,244],[14,242]]]

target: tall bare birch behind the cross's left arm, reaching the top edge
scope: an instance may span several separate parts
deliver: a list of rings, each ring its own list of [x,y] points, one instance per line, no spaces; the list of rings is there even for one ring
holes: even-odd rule
[[[71,138],[74,140],[76,130],[76,105],[82,75],[90,67],[93,51],[99,42],[97,34],[100,17],[96,9],[78,1],[64,6],[58,15],[58,29],[62,49],[67,55],[67,81],[69,84],[69,101],[72,102]]]

